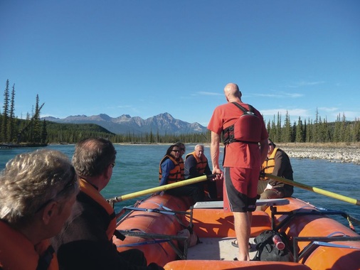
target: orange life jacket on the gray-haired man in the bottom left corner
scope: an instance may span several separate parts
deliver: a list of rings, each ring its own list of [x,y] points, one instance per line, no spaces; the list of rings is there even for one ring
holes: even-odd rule
[[[41,241],[34,247],[25,235],[1,220],[0,232],[0,265],[2,269],[59,269],[58,259],[49,239]]]

